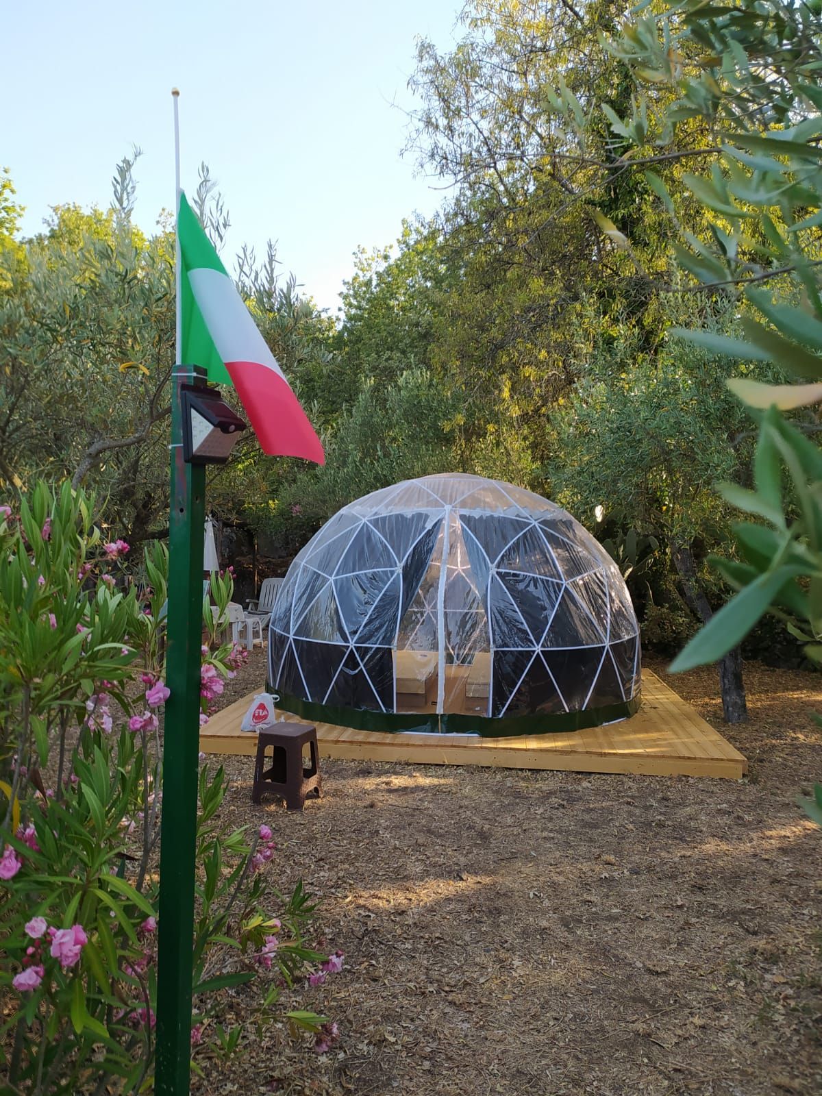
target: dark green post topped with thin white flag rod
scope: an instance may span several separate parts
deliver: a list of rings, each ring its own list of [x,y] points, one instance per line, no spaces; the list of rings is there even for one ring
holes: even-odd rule
[[[174,100],[175,228],[180,217],[180,92]],[[181,386],[194,377],[182,363],[182,262],[176,236],[176,353],[171,386],[169,609],[162,752],[162,824],[157,962],[157,1096],[187,1096],[191,1084],[194,878],[199,753],[199,666],[203,630],[205,467],[183,460]]]

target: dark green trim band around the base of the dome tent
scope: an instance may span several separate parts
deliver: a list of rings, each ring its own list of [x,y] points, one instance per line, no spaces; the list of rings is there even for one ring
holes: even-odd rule
[[[381,734],[397,734],[415,731],[420,734],[479,734],[484,739],[518,738],[523,734],[558,734],[581,731],[586,727],[601,727],[617,719],[628,719],[639,711],[641,693],[630,700],[607,704],[601,708],[585,708],[582,711],[534,712],[527,716],[504,716],[492,719],[488,716],[466,716],[449,711],[444,715],[414,711],[373,711],[369,708],[343,708],[304,700],[281,689],[266,685],[270,693],[276,693],[277,707],[290,711],[300,719],[316,723],[334,723],[338,727],[353,727],[358,731],[378,731]]]

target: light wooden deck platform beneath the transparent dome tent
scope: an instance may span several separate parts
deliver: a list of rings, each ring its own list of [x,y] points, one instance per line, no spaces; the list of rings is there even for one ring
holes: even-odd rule
[[[738,780],[747,762],[655,674],[642,672],[642,707],[631,719],[570,734],[481,739],[460,734],[377,734],[317,723],[322,757],[408,762],[412,765],[491,765],[573,773],[720,776]],[[256,753],[256,734],[240,730],[253,694],[212,716],[199,734],[212,754]],[[294,722],[305,722],[283,713]]]

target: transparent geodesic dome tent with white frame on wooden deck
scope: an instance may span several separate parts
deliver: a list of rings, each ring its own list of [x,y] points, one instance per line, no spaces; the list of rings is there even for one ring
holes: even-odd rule
[[[560,506],[478,476],[344,506],[292,563],[269,639],[281,706],[346,727],[530,734],[639,706],[614,561]]]

